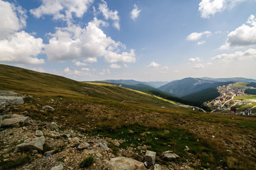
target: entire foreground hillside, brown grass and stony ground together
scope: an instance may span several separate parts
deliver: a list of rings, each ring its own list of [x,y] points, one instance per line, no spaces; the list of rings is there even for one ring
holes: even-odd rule
[[[255,169],[254,117],[193,111],[182,103],[103,82],[3,64],[0,70],[1,90],[23,98],[23,103],[2,105],[3,122],[26,119],[1,126],[0,169],[84,169],[80,164],[91,157],[86,169],[114,169],[111,162],[120,157],[141,166],[147,150],[156,153],[157,164],[148,169]],[[52,122],[58,128],[50,129]],[[38,140],[38,130],[45,138],[43,150],[14,152]],[[179,158],[163,159],[167,151]]]

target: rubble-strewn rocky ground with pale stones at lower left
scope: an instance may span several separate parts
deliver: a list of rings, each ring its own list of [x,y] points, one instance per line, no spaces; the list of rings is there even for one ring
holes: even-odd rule
[[[33,96],[0,92],[0,169],[83,169],[81,162],[89,157],[93,161],[84,166],[86,169],[194,169],[200,162],[192,158],[179,162],[177,154],[150,152],[147,146],[121,148],[123,140],[92,136],[83,128],[64,129],[53,121],[33,120],[28,111],[13,114],[10,108],[18,109],[23,98]],[[50,110],[54,108],[41,108],[42,112]]]

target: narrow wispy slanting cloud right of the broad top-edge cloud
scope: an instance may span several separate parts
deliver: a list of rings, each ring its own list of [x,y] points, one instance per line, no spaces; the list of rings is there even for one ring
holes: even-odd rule
[[[101,0],[101,4],[99,4],[99,11],[101,11],[102,15],[106,20],[111,19],[113,21],[113,26],[120,30],[120,18],[118,16],[118,11],[112,11],[108,8],[106,1]]]

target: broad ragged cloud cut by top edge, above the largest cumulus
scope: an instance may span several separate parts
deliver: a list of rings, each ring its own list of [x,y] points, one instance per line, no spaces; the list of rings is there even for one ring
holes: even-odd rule
[[[44,15],[52,15],[53,19],[62,19],[69,21],[73,15],[81,18],[88,7],[94,0],[76,0],[76,1],[63,1],[63,0],[42,0],[42,5],[38,8],[30,10],[35,17],[40,18]]]

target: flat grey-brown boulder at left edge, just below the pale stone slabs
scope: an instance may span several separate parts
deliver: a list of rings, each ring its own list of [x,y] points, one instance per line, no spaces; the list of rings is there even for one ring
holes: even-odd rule
[[[12,115],[13,118],[6,118],[2,122],[2,126],[15,126],[15,127],[21,127],[23,125],[26,125],[28,123],[28,116],[23,115]]]

